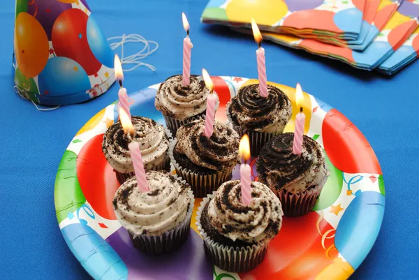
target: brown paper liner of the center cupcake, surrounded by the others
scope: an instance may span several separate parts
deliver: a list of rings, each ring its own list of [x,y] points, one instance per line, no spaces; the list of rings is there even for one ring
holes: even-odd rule
[[[215,173],[193,172],[192,170],[183,168],[177,163],[175,157],[173,156],[173,150],[175,149],[176,143],[177,139],[173,139],[170,142],[170,160],[175,167],[176,174],[186,180],[186,182],[191,186],[193,195],[196,198],[204,198],[208,193],[216,191],[221,184],[227,182],[233,176],[234,167],[223,172],[216,171]]]

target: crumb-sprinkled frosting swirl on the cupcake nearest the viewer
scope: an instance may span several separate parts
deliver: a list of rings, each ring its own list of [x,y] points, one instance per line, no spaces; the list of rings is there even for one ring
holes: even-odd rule
[[[221,235],[233,241],[267,242],[281,228],[281,202],[264,184],[252,182],[251,188],[252,202],[247,206],[241,201],[240,180],[222,184],[209,202],[209,221]]]

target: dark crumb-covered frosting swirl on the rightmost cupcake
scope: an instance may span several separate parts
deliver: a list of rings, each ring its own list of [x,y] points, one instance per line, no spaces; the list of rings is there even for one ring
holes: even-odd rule
[[[260,182],[273,188],[301,193],[311,186],[323,186],[330,174],[323,149],[304,135],[301,154],[293,154],[294,133],[284,133],[265,144],[257,169]]]

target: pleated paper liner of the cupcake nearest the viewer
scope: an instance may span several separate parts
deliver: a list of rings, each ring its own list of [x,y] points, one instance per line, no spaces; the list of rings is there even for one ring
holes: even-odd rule
[[[205,255],[210,262],[228,272],[247,272],[262,263],[266,256],[269,242],[259,242],[247,247],[233,247],[219,244],[212,240],[203,230],[200,217],[205,205],[214,197],[208,195],[198,207],[196,225],[204,240]]]

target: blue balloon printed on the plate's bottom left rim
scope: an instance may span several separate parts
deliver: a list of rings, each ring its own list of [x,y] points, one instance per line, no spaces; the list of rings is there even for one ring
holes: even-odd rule
[[[72,223],[61,228],[68,247],[94,279],[127,279],[128,269],[118,253],[89,226]]]

